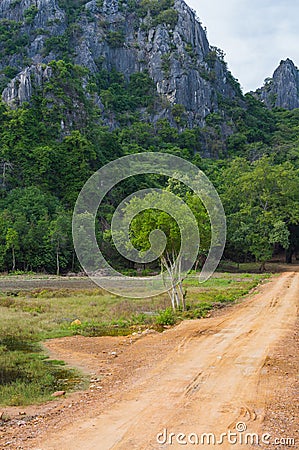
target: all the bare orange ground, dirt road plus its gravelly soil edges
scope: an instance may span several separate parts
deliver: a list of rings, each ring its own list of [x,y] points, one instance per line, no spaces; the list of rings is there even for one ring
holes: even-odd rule
[[[90,388],[3,409],[12,419],[2,422],[0,448],[196,448],[194,433],[219,440],[230,430],[238,439],[268,433],[269,445],[224,439],[198,447],[298,449],[298,305],[299,273],[284,272],[239,304],[161,334],[49,340],[50,356],[84,370]],[[240,424],[245,431],[236,431]],[[179,433],[192,443],[178,443]]]

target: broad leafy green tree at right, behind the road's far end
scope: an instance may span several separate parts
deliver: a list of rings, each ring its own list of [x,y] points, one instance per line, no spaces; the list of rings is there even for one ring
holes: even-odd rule
[[[263,270],[274,244],[288,249],[291,225],[299,223],[298,171],[263,156],[251,164],[238,158],[222,175],[228,244],[252,254]]]

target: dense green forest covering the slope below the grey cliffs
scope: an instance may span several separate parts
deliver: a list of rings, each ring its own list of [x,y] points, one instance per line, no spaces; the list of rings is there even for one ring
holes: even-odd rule
[[[227,215],[224,258],[257,261],[263,268],[274,252],[284,251],[291,262],[299,248],[298,109],[268,110],[240,92],[238,100],[219,98],[223,114],[211,113],[202,128],[188,128],[184,107],[178,104],[172,110],[175,126],[166,119],[151,123],[145,112],[163,99],[146,72],[125,80],[115,71],[91,76],[63,60],[50,66],[52,78],[36,88],[30,104],[17,109],[0,105],[1,272],[80,271],[71,222],[81,188],[107,162],[148,151],[185,158],[213,182]],[[84,89],[82,78],[88,80]],[[119,126],[111,129],[103,123],[92,100],[95,93],[106,119],[113,116]],[[231,129],[226,138],[223,123]],[[111,242],[113,211],[130,193],[153,186],[188,196],[182,189],[175,191],[171,180],[139,176],[109,192],[99,211],[99,244],[118,268],[132,265]]]

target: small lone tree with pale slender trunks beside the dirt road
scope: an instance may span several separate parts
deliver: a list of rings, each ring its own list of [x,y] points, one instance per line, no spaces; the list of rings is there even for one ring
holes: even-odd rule
[[[169,191],[133,197],[123,209],[122,231],[114,237],[128,259],[137,261],[139,251],[140,261],[160,260],[173,309],[186,307],[182,282],[199,252],[199,227],[203,246],[209,241],[209,219],[201,201],[188,192],[184,197]]]

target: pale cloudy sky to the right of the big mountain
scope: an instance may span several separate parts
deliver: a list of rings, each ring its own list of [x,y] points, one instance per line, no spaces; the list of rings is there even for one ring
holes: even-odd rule
[[[244,92],[262,86],[282,59],[299,65],[298,0],[186,0]]]

